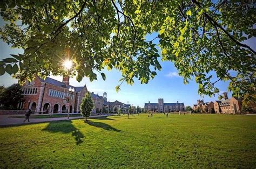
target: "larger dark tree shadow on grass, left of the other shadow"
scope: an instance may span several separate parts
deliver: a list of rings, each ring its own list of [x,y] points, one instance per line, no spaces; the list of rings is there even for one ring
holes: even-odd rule
[[[61,133],[70,133],[76,139],[76,144],[83,143],[84,135],[80,132],[73,124],[72,121],[52,121],[49,122],[43,131],[50,132],[61,132]]]

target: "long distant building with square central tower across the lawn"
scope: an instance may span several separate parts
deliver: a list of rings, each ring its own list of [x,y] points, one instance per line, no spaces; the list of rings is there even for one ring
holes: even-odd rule
[[[144,109],[146,111],[154,112],[170,112],[170,111],[181,111],[184,110],[184,103],[164,103],[163,98],[158,98],[158,103],[145,103]]]

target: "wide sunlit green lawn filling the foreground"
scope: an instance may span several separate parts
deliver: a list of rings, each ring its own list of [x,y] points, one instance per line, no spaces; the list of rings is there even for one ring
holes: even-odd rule
[[[110,116],[0,128],[0,168],[256,167],[256,116]]]

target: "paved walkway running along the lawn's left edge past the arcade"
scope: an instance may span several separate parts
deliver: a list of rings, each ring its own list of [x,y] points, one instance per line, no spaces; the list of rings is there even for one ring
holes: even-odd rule
[[[43,115],[49,115],[49,114],[43,114]],[[62,114],[63,115],[63,114]],[[106,116],[112,116],[111,115],[95,115],[90,116],[89,118],[94,117],[106,117]],[[24,118],[15,118],[11,116],[24,116]],[[31,115],[33,116],[33,115]],[[79,117],[69,117],[69,119],[79,119],[84,118],[83,116]],[[57,118],[30,118],[29,121],[23,122],[25,119],[25,115],[0,115],[0,126],[10,126],[10,125],[22,125],[22,124],[35,124],[35,123],[43,123],[43,122],[50,122],[50,121],[61,121],[61,120],[68,120],[67,117],[57,117]]]

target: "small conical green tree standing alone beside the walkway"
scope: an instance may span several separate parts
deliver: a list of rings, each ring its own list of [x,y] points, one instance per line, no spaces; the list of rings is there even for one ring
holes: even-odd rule
[[[93,109],[93,100],[90,92],[88,91],[85,97],[83,97],[82,102],[80,104],[80,113],[85,117],[86,121],[87,121],[87,117],[91,115],[92,109]]]

